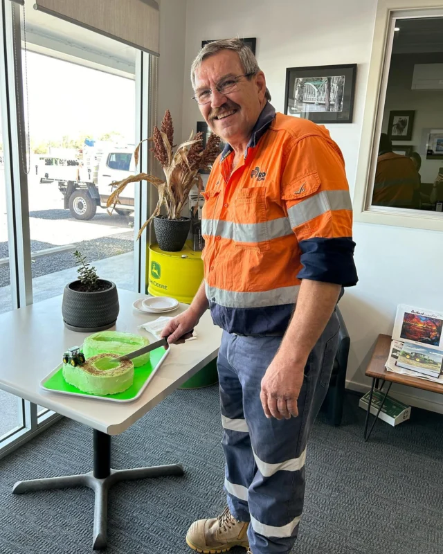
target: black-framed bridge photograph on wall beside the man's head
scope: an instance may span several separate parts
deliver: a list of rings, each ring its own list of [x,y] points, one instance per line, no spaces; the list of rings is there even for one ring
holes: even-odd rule
[[[289,67],[284,113],[314,123],[352,123],[357,64]]]

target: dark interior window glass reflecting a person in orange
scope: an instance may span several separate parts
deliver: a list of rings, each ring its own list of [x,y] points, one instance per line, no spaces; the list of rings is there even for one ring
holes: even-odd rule
[[[395,20],[372,206],[442,211],[443,17]]]

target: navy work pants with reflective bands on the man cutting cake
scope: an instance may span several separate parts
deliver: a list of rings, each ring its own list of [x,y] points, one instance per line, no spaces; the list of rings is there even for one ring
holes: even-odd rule
[[[332,316],[309,355],[298,417],[267,419],[261,381],[281,337],[224,332],[218,357],[228,506],[248,529],[253,554],[289,553],[298,534],[305,495],[307,438],[320,409],[338,347]]]

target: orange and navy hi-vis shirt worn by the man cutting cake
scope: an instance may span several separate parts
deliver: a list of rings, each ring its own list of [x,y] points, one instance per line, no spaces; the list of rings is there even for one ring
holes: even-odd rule
[[[232,172],[226,145],[204,192],[206,295],[213,321],[284,334],[303,278],[357,282],[345,163],[325,127],[269,104]]]

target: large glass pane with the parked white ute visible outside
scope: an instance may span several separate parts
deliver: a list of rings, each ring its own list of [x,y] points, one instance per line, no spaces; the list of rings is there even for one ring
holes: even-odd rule
[[[33,301],[77,277],[75,250],[132,290],[134,185],[113,215],[106,202],[112,183],[135,170],[137,52],[35,10],[26,25]]]

